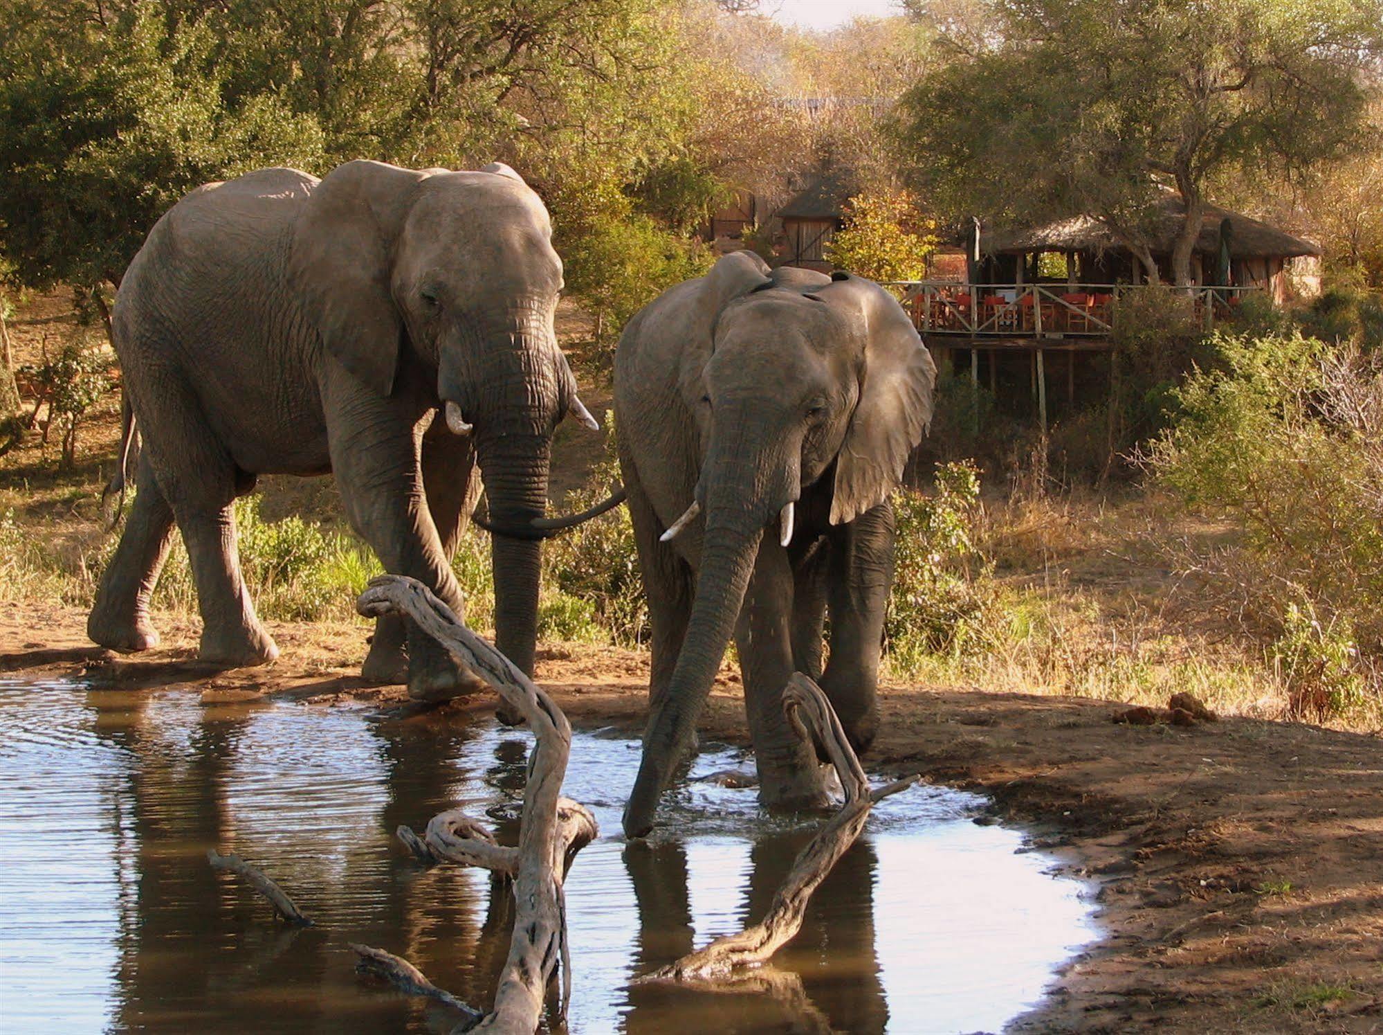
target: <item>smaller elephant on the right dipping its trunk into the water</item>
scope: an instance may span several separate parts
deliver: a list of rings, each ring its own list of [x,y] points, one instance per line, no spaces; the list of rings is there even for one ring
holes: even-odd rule
[[[734,253],[646,306],[620,339],[620,465],[653,621],[631,837],[653,826],[694,749],[732,635],[766,804],[826,804],[815,753],[783,717],[792,671],[820,679],[857,750],[874,738],[893,576],[888,495],[931,422],[936,368],[888,292],[835,277],[770,274]],[[700,516],[662,542],[693,500]]]

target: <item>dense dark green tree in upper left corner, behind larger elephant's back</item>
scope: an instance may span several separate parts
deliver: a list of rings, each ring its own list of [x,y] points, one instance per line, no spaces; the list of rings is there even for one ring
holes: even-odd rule
[[[0,234],[12,278],[119,285],[184,192],[261,163],[319,165],[311,119],[260,93],[227,107],[202,28],[154,4],[123,14],[0,0]],[[98,304],[104,304],[100,295]]]

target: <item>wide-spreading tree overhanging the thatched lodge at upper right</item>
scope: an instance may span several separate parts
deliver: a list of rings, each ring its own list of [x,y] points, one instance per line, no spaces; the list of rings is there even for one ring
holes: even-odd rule
[[[921,0],[916,10],[928,10]],[[909,180],[954,213],[1086,214],[1156,278],[1174,190],[1173,277],[1191,281],[1206,190],[1234,169],[1299,176],[1365,127],[1375,0],[989,0],[996,30],[903,97]],[[947,37],[943,37],[947,39]]]

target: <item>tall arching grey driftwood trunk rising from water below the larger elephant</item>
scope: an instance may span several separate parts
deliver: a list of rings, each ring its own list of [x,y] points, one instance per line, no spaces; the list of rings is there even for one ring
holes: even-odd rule
[[[476,1025],[476,1031],[532,1035],[542,1016],[544,993],[557,971],[559,959],[563,963],[563,1010],[571,999],[567,915],[561,888],[561,862],[570,843],[564,841],[563,823],[557,816],[561,780],[571,751],[571,725],[544,690],[508,657],[467,630],[422,583],[404,576],[375,578],[361,594],[355,609],[365,617],[400,613],[412,619],[423,632],[494,686],[503,702],[528,721],[528,728],[534,732],[519,847],[510,850],[516,857],[495,851],[496,845],[492,844],[479,848],[485,841],[472,836],[476,825],[470,825],[470,833],[456,839],[465,841],[467,850],[479,850],[477,858],[491,862],[517,858],[513,870],[516,913],[509,958],[495,991],[494,1007]],[[434,845],[429,847],[434,850]]]

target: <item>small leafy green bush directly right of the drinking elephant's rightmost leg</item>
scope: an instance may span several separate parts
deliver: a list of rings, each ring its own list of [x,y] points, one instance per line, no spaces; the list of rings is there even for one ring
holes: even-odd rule
[[[976,548],[979,472],[969,462],[936,468],[931,495],[893,494],[898,545],[885,620],[891,664],[913,671],[927,656],[990,649],[1008,612]]]

